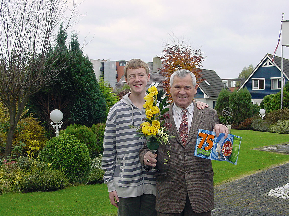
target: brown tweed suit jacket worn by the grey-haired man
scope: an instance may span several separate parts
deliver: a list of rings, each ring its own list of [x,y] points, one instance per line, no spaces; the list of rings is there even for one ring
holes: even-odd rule
[[[155,209],[162,213],[180,213],[185,206],[186,196],[190,198],[192,209],[195,213],[211,211],[214,209],[214,171],[211,160],[194,156],[198,129],[213,130],[219,123],[216,110],[205,108],[199,110],[194,103],[192,124],[184,147],[179,136],[178,128],[173,119],[172,105],[168,111],[170,119],[166,122],[172,124],[169,135],[171,144],[160,145],[158,149],[156,172],[156,206]],[[140,150],[140,162],[143,165],[144,154],[149,151],[145,145]],[[171,156],[168,159],[167,151]]]

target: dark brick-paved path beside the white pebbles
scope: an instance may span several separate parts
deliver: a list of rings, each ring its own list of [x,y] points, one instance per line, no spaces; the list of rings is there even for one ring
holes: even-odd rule
[[[212,216],[289,215],[289,200],[268,197],[271,188],[289,183],[289,163],[214,188]]]

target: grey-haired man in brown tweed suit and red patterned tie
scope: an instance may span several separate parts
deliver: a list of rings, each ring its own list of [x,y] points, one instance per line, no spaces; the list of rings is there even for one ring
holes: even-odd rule
[[[143,166],[156,166],[156,211],[166,215],[211,215],[214,208],[213,168],[211,160],[194,156],[198,129],[214,130],[216,135],[228,129],[218,124],[216,110],[196,109],[192,102],[197,92],[196,77],[188,70],[178,70],[171,75],[170,92],[174,103],[169,106],[172,124],[170,145],[160,145],[158,154],[152,154],[147,146],[140,150]],[[167,164],[167,152],[171,156]]]

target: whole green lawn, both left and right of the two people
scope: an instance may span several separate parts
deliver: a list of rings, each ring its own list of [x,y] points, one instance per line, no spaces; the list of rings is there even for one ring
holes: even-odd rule
[[[237,165],[212,161],[215,185],[250,175],[266,168],[289,162],[289,155],[253,148],[289,141],[289,134],[266,133],[248,130],[231,130],[242,137]],[[110,204],[107,187],[80,185],[55,192],[4,194],[0,196],[0,216],[116,216],[117,209]]]

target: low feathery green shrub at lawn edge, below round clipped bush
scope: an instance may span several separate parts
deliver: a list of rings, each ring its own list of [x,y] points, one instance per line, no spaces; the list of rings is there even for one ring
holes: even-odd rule
[[[26,192],[55,191],[68,185],[68,179],[62,170],[45,167],[34,169],[24,175],[22,187]]]

